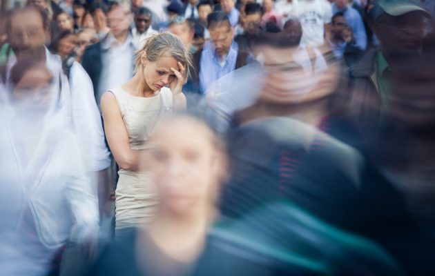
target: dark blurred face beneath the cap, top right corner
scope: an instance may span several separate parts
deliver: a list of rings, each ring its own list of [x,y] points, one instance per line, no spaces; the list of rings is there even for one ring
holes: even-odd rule
[[[375,23],[374,32],[384,53],[421,48],[425,32],[422,12],[409,12],[400,17],[383,14]]]

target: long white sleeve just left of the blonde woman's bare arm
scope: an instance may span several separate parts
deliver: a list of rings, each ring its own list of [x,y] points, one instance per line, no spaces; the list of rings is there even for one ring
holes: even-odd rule
[[[104,141],[104,130],[93,84],[77,62],[70,69],[72,123],[84,156],[86,170],[96,172],[110,166],[110,152]]]

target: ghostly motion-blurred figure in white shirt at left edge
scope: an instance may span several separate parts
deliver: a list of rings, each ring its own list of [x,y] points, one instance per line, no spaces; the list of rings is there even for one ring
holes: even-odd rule
[[[56,273],[67,242],[90,246],[81,248],[81,255],[95,250],[97,191],[53,80],[43,61],[19,59],[10,70],[10,105],[1,106],[0,270],[5,275]]]

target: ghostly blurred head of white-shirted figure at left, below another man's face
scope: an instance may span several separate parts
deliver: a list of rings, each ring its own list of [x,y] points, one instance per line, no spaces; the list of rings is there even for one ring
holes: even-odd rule
[[[10,71],[12,103],[26,112],[47,112],[52,99],[52,79],[43,61],[21,59]]]

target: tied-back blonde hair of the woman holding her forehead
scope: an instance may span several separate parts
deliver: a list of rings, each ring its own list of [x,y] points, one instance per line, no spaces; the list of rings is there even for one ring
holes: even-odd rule
[[[191,53],[184,47],[182,41],[170,32],[153,34],[146,39],[144,47],[135,52],[135,72],[139,66],[142,66],[141,57],[144,52],[146,59],[151,62],[157,61],[163,55],[169,55],[180,61],[186,68],[184,77],[189,76],[190,68],[193,68]]]

